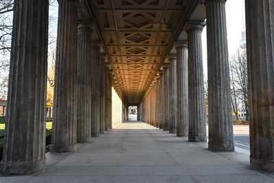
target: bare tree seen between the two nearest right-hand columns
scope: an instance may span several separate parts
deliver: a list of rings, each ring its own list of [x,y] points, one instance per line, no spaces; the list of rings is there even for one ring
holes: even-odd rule
[[[248,99],[248,80],[247,80],[247,51],[238,49],[230,58],[230,73],[232,76],[232,106],[235,114],[238,114],[237,99],[245,103],[246,120],[249,119],[249,99]],[[237,92],[242,96],[239,97]]]

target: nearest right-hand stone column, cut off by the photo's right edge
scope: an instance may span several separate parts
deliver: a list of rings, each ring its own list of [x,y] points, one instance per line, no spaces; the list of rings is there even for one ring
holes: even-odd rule
[[[274,1],[245,1],[250,164],[274,171]]]

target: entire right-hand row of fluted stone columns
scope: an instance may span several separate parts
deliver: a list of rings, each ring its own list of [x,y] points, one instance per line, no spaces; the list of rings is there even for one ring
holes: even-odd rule
[[[225,0],[207,0],[205,5],[208,38],[208,149],[234,151]],[[246,2],[251,166],[269,171],[274,171],[274,137],[271,135],[274,133],[273,7],[272,1]],[[192,142],[207,141],[201,49],[204,26],[205,23],[201,21],[187,23],[188,40],[177,42],[177,56],[169,56],[169,67],[164,66],[162,76],[165,80],[162,84],[164,101],[169,103],[160,103],[169,116],[168,121],[164,122],[169,125],[164,126],[169,126],[170,133],[177,132],[177,136],[188,136]],[[169,75],[169,81],[166,75]],[[149,124],[152,120],[152,125],[162,123],[154,122],[151,118],[161,111],[161,108],[158,111],[153,108],[154,103],[161,100],[157,95],[161,90],[155,86],[157,84],[154,84],[141,103],[141,119]]]

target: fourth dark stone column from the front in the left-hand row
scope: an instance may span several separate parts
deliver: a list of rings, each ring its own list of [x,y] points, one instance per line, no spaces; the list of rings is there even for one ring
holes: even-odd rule
[[[92,69],[92,89],[91,89],[91,136],[99,136],[100,133],[100,121],[101,121],[101,97],[100,97],[100,74],[99,69],[99,51],[101,43],[97,41],[92,42],[91,47],[91,69]]]

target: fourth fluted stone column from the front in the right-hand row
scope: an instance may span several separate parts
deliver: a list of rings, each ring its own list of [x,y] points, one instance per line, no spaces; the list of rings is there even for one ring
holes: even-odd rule
[[[176,43],[177,136],[188,136],[188,43]]]

